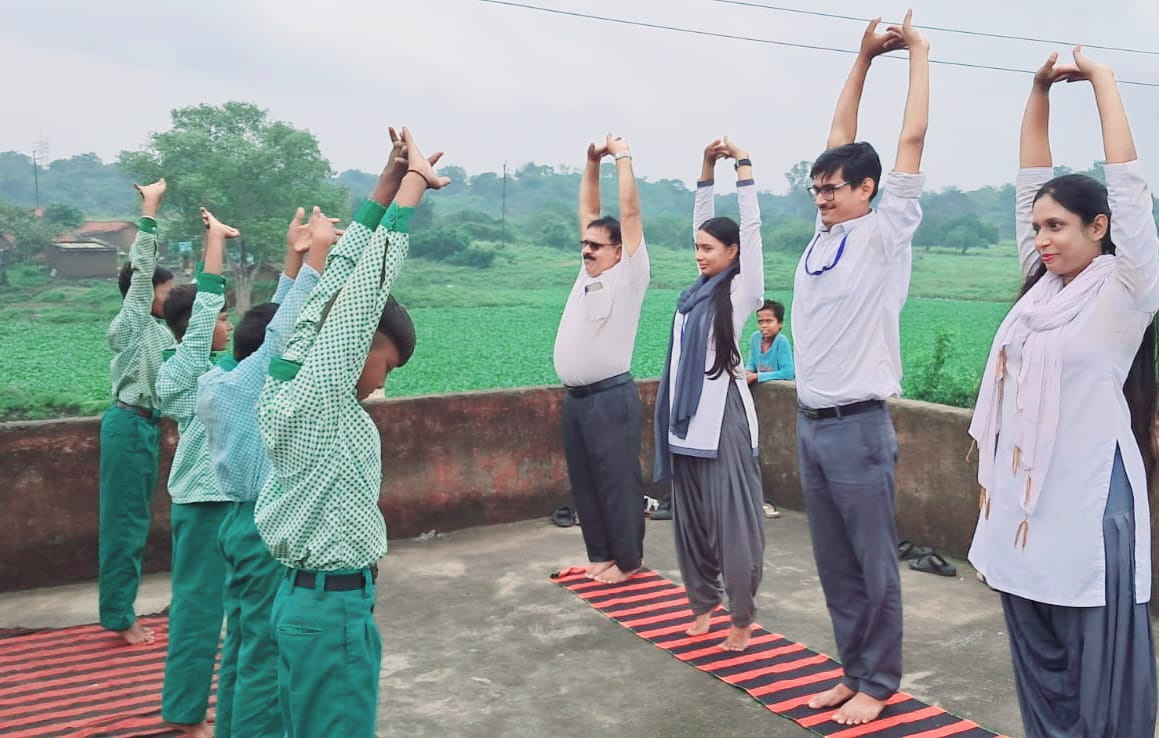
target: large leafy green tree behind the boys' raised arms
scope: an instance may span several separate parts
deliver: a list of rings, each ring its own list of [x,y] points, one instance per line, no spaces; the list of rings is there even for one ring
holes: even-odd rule
[[[238,309],[250,304],[254,277],[282,254],[294,209],[320,205],[348,213],[348,193],[308,131],[270,120],[243,102],[194,105],[170,114],[172,127],[152,133],[140,151],[122,152],[121,167],[138,181],[166,177],[166,209],[180,233],[199,233],[201,206],[238,227],[231,250]]]

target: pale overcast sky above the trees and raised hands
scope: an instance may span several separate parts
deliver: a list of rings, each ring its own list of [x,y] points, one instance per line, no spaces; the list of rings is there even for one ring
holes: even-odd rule
[[[802,44],[855,49],[863,23],[713,0],[525,0],[527,5]],[[773,3],[778,0],[753,0]],[[899,21],[906,3],[779,0]],[[629,139],[636,171],[691,182],[704,145],[729,134],[758,183],[822,149],[852,57],[552,15],[479,0],[0,0],[5,105],[0,151],[104,160],[168,127],[169,110],[256,103],[313,131],[336,170],[377,170],[386,125],[469,173],[526,161],[578,166],[607,130]],[[1159,2],[918,0],[914,22],[1159,50]],[[1030,70],[1065,46],[927,31],[934,59]],[[1088,50],[1121,80],[1159,83],[1159,56]],[[870,72],[859,138],[894,159],[906,63]],[[1030,78],[932,67],[930,184],[1009,181]],[[1123,88],[1140,155],[1159,162],[1159,87]],[[1055,161],[1101,159],[1088,85],[1055,94]],[[1159,181],[1159,165],[1152,181]]]

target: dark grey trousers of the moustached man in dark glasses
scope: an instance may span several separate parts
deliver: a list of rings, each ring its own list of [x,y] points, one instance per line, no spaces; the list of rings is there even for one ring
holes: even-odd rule
[[[563,454],[588,561],[628,572],[644,554],[640,390],[630,375],[605,382],[612,386],[563,399]]]

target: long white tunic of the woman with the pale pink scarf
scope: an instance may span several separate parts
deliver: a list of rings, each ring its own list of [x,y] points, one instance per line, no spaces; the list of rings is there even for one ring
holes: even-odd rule
[[[970,563],[986,583],[1009,594],[1050,605],[1106,605],[1102,513],[1107,505],[1115,445],[1123,455],[1135,499],[1135,601],[1151,598],[1151,514],[1143,456],[1131,432],[1123,381],[1159,309],[1159,235],[1151,193],[1138,161],[1107,165],[1115,273],[1089,307],[1062,331],[1062,397],[1054,453],[1042,494],[1029,517],[1019,500],[1026,474],[994,465],[990,516],[978,516]],[[1048,168],[1018,176],[1019,260],[1023,276],[1041,263],[1030,225],[1035,193],[1054,175]],[[1006,346],[1006,372],[1016,377],[1021,346]],[[1009,388],[1007,388],[1009,389]],[[1003,393],[1003,425],[1019,411],[1014,392]],[[1047,439],[1040,443],[1045,443]],[[1014,439],[999,433],[997,459],[1013,458]],[[1038,473],[1041,474],[1041,472]],[[1026,520],[1027,543],[1014,545]]]

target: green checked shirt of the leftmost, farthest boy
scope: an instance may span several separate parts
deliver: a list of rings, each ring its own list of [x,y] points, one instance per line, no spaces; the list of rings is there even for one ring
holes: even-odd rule
[[[121,312],[109,323],[112,361],[112,399],[139,408],[155,408],[153,385],[161,367],[161,352],[173,346],[173,334],[153,317],[153,271],[156,269],[156,220],[143,217],[129,249],[133,266]]]

